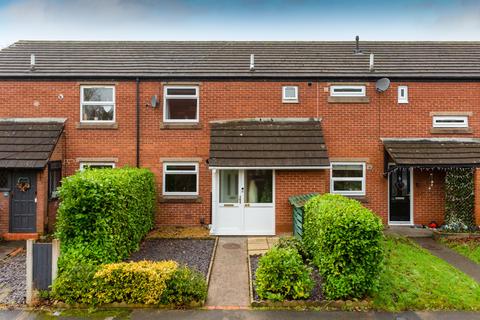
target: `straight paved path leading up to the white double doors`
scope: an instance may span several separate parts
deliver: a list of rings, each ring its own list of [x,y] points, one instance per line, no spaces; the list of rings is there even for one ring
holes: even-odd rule
[[[249,307],[248,281],[247,239],[221,237],[213,261],[206,306]]]

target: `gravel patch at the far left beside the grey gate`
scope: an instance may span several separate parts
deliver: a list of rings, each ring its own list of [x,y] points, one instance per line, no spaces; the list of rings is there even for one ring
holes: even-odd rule
[[[26,258],[25,253],[0,260],[0,304],[25,304]]]

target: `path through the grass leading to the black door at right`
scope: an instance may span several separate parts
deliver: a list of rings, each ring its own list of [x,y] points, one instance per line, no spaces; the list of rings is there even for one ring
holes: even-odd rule
[[[475,262],[456,253],[452,249],[445,247],[432,238],[414,238],[413,240],[430,251],[434,256],[445,260],[480,283],[480,266]]]

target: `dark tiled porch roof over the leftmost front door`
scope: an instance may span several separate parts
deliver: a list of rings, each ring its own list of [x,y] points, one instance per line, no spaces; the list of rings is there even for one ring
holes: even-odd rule
[[[1,119],[0,168],[43,169],[65,119]]]

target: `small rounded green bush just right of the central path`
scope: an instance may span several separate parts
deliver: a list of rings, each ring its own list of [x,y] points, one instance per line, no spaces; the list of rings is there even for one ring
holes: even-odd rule
[[[303,263],[296,249],[273,247],[260,258],[256,289],[261,299],[306,299],[314,282],[312,269]]]

